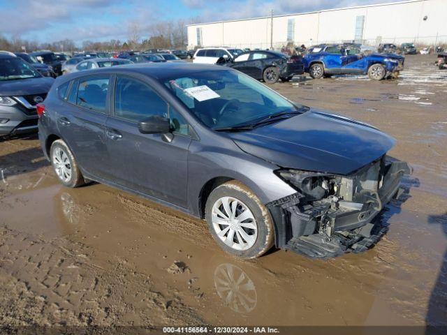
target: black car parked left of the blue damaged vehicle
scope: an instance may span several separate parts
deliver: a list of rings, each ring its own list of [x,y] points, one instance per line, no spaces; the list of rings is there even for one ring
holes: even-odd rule
[[[276,51],[249,51],[226,61],[223,57],[218,64],[224,64],[254,77],[273,84],[281,79],[288,82],[294,75],[302,75],[304,66],[302,57],[288,56]]]

